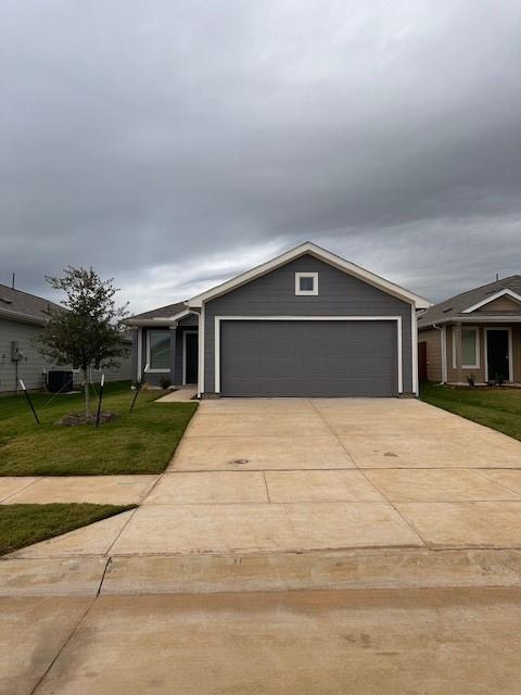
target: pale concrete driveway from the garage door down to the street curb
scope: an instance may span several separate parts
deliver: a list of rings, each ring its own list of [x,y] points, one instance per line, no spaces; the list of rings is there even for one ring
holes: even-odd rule
[[[521,443],[416,400],[204,401],[136,511],[18,557],[521,546]]]

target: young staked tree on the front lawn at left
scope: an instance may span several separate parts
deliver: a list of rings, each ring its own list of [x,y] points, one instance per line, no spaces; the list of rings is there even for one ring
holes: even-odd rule
[[[65,292],[65,309],[51,314],[38,338],[39,351],[50,362],[81,369],[85,412],[89,416],[89,369],[118,366],[118,358],[127,352],[122,341],[127,304],[116,306],[118,289],[113,287],[113,279],[102,280],[92,268],[68,266],[63,277],[46,276],[46,280]]]

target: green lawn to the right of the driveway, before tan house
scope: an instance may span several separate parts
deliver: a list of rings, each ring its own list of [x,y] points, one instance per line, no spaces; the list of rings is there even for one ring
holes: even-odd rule
[[[455,389],[423,383],[420,399],[521,441],[521,389]]]

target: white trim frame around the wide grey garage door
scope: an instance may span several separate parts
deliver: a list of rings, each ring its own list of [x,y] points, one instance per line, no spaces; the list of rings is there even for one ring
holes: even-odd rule
[[[215,393],[220,393],[220,324],[221,321],[396,321],[398,393],[404,392],[404,355],[402,316],[216,316],[215,317]]]

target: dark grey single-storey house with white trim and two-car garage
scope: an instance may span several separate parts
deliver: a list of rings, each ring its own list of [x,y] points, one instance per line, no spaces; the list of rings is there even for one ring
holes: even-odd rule
[[[416,394],[423,298],[310,242],[132,317],[135,374],[215,396]]]

